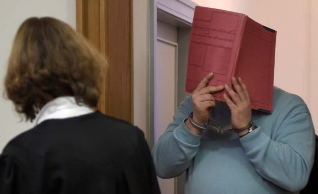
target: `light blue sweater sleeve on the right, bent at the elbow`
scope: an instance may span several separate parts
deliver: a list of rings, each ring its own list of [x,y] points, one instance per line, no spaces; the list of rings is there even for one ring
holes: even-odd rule
[[[255,170],[288,191],[298,192],[308,182],[314,162],[315,129],[302,100],[286,101],[276,120],[240,138]],[[257,124],[256,124],[257,125]],[[271,129],[265,129],[271,128]],[[263,130],[272,131],[265,134]]]

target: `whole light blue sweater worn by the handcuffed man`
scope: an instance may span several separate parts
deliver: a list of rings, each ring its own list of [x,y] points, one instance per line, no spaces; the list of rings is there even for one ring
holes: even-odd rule
[[[315,130],[297,95],[275,87],[273,113],[253,111],[258,128],[241,138],[208,130],[194,135],[184,124],[190,112],[188,96],[152,150],[160,178],[186,170],[185,194],[290,194],[306,186],[314,162]],[[219,101],[210,118],[231,123],[229,108]]]

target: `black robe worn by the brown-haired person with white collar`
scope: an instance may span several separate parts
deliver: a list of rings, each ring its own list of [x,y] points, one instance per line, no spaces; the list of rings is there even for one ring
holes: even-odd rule
[[[51,119],[0,155],[0,194],[159,194],[143,132],[100,112]]]

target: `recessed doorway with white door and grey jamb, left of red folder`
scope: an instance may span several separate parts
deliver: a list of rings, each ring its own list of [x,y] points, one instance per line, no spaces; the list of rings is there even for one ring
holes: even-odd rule
[[[154,26],[154,143],[173,121],[173,115],[189,93],[185,79],[191,22],[156,6]],[[169,7],[171,8],[171,7]],[[180,8],[178,6],[174,8]],[[194,12],[193,9],[192,14]],[[191,12],[190,12],[191,14]],[[173,179],[160,179],[164,194],[184,194],[185,173]]]

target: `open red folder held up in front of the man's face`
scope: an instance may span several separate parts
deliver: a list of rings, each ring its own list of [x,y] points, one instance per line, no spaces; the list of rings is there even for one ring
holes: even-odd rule
[[[245,14],[196,6],[185,91],[192,93],[209,72],[208,85],[232,87],[231,77],[240,77],[252,109],[272,113],[276,33]],[[224,102],[224,92],[213,95]]]

